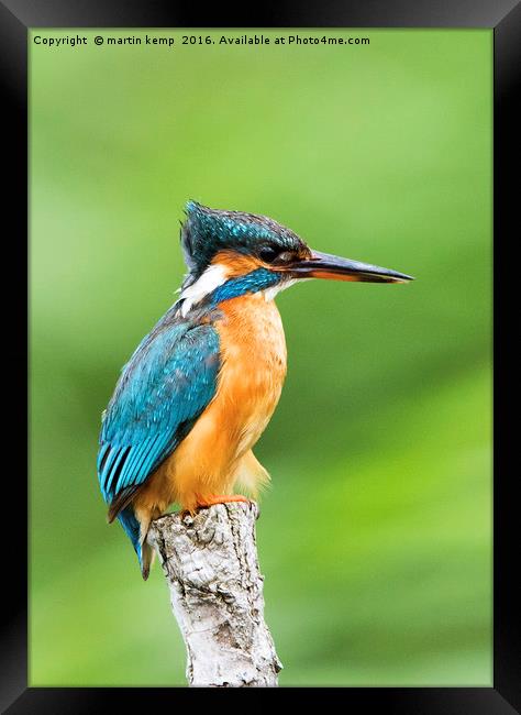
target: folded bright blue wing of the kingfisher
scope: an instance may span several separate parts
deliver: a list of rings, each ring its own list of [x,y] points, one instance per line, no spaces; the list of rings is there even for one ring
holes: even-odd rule
[[[98,476],[112,520],[188,435],[215,394],[219,336],[168,314],[123,367],[100,435]]]

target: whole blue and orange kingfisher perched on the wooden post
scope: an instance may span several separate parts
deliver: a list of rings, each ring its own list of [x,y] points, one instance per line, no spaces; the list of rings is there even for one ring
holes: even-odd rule
[[[108,519],[121,522],[143,579],[153,519],[254,498],[269,475],[252,449],[286,376],[275,296],[310,278],[406,283],[412,277],[311,250],[255,213],[186,205],[188,268],[178,300],[123,366],[102,416],[98,477]]]

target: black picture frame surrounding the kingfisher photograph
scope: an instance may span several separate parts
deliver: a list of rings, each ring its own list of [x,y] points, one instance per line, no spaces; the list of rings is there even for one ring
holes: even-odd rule
[[[340,695],[345,708],[378,708],[401,715],[509,715],[521,712],[521,587],[516,485],[517,462],[510,462],[514,418],[506,405],[508,372],[505,355],[512,350],[514,324],[506,319],[514,304],[516,276],[507,274],[509,246],[517,238],[514,211],[519,202],[519,146],[514,111],[521,86],[521,4],[517,0],[309,0],[209,8],[166,0],[0,0],[0,68],[3,94],[4,160],[3,223],[4,271],[26,276],[27,246],[27,32],[32,28],[489,28],[494,29],[494,271],[495,271],[495,460],[494,460],[494,685],[490,688],[342,688],[320,689],[322,706],[330,692]],[[502,276],[506,279],[502,279]],[[26,284],[25,284],[26,285]],[[11,293],[9,294],[11,295]],[[26,344],[26,290],[18,298],[4,297],[4,331],[10,343],[9,382],[15,396],[9,400],[13,441],[26,433],[23,385],[27,364],[19,355]],[[15,336],[15,338],[14,338]],[[4,350],[5,352],[5,350]],[[498,369],[501,361],[501,369]],[[22,374],[24,373],[25,374]],[[5,376],[7,373],[4,373]],[[509,387],[512,386],[509,380]],[[4,407],[5,409],[5,407]],[[9,442],[11,447],[13,442]],[[26,526],[23,505],[27,485],[23,480],[23,441],[9,449],[12,464],[4,466],[4,499],[14,519],[4,524],[2,602],[4,626],[0,666],[0,707],[19,713],[98,713],[147,707],[179,706],[184,697],[197,700],[198,689],[27,688],[27,575]],[[514,465],[509,466],[510,464]],[[519,468],[518,468],[519,469]],[[8,492],[9,491],[9,492]],[[4,513],[5,506],[4,506]],[[9,546],[5,542],[9,541]],[[516,558],[518,557],[518,558]],[[9,559],[9,561],[8,561]],[[288,691],[278,689],[285,697]],[[313,689],[307,689],[313,690]],[[336,693],[336,691],[339,691]],[[308,693],[310,695],[311,693]],[[218,696],[218,702],[221,696]],[[324,700],[325,698],[325,700]],[[226,701],[228,702],[228,701]],[[5,710],[7,708],[7,710]]]

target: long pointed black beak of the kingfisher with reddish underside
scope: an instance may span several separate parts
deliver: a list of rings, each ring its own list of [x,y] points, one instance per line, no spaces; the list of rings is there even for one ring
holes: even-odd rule
[[[370,263],[342,258],[330,253],[312,251],[309,258],[287,266],[296,278],[330,278],[333,280],[361,280],[364,283],[407,283],[412,276]]]

